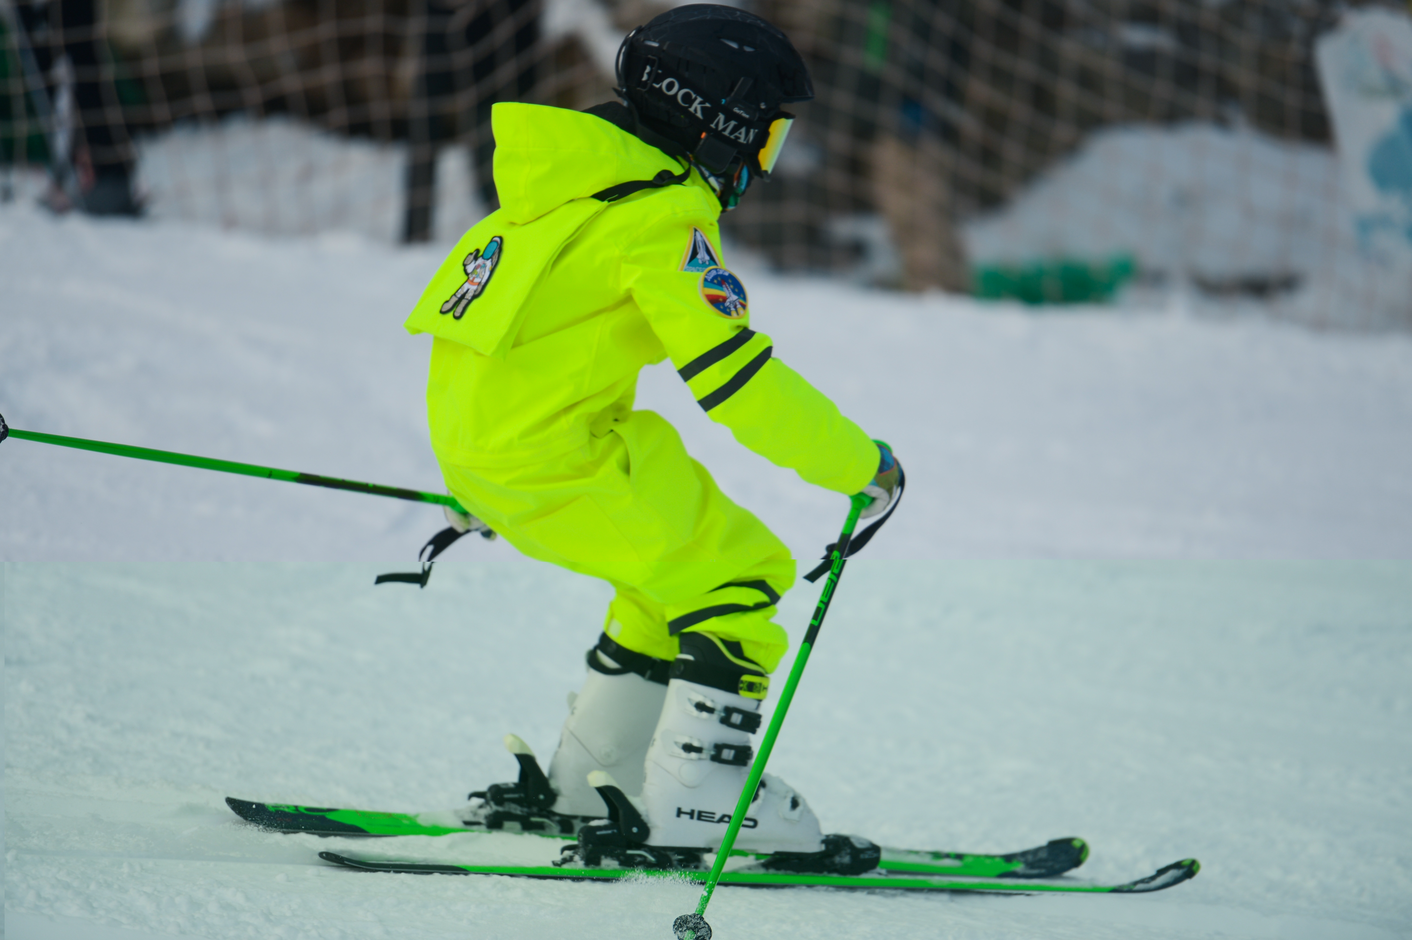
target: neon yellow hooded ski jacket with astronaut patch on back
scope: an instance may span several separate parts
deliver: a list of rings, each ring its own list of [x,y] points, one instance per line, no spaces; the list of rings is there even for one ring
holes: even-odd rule
[[[722,263],[720,205],[683,185],[602,202],[682,167],[593,114],[493,112],[501,209],[462,237],[405,327],[432,333],[426,388],[442,463],[494,474],[552,463],[633,409],[637,374],[671,357],[706,415],[808,483],[853,494],[878,450],[750,329]]]

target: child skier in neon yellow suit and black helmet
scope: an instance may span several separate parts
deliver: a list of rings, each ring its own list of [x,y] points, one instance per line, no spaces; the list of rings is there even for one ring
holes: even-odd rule
[[[582,113],[496,104],[501,207],[460,240],[407,329],[435,337],[432,447],[476,514],[452,524],[483,522],[617,591],[548,776],[507,737],[520,782],[473,795],[466,821],[578,831],[589,864],[671,865],[726,831],[788,646],[771,617],[795,563],[666,421],[633,411],[638,371],[669,357],[740,443],[868,494],[866,515],[892,500],[899,470],[774,357],[722,264],[720,213],[768,179],[792,121],[781,107],[813,97],[799,54],[760,17],[685,6],[623,41],[617,80],[623,103]],[[641,819],[603,823],[606,799]],[[770,775],[737,847],[849,865]]]

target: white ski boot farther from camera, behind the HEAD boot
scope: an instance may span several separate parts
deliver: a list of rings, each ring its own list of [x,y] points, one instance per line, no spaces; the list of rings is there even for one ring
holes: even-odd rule
[[[671,663],[626,649],[603,634],[587,665],[583,687],[569,694],[569,717],[548,776],[530,745],[507,734],[505,749],[520,762],[520,779],[472,793],[462,810],[467,827],[572,834],[603,816],[603,797],[587,783],[594,771],[611,771],[634,795],[642,790],[642,765]]]

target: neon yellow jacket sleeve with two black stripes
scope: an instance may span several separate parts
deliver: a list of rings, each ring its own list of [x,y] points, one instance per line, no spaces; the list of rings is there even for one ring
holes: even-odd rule
[[[685,244],[689,234],[690,227],[676,240]],[[770,337],[750,329],[748,313],[720,313],[703,296],[702,278],[662,264],[624,265],[626,287],[696,404],[771,463],[827,490],[860,493],[878,473],[877,445],[775,357]]]

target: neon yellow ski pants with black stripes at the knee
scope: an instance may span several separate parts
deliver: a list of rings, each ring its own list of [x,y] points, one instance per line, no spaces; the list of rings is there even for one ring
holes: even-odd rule
[[[770,672],[788,649],[771,618],[795,580],[789,549],[720,491],[661,415],[628,412],[552,462],[443,462],[442,474],[525,555],[613,584],[604,632],[628,649],[675,659],[679,634],[710,632]]]

